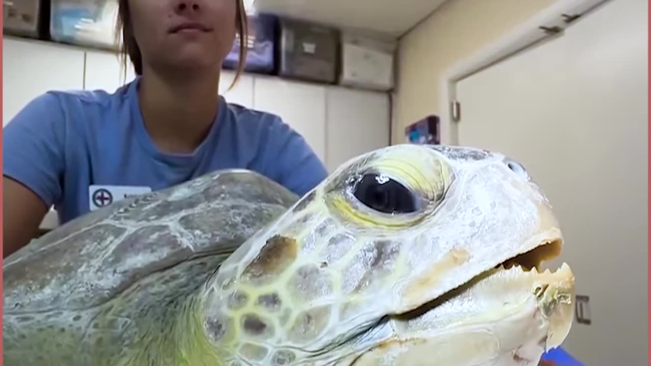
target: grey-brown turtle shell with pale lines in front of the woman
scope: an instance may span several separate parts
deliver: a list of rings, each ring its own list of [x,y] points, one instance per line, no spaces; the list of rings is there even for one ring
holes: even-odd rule
[[[132,298],[122,302],[132,308],[122,311],[129,322],[150,302],[182,297],[296,201],[257,173],[216,171],[48,232],[3,261],[5,351],[24,357],[19,338],[53,324],[62,333],[77,327],[70,341],[82,341],[97,311],[115,298]],[[129,295],[145,288],[149,296]]]

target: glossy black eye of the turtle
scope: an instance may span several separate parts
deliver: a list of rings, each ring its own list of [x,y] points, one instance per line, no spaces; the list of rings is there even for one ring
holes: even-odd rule
[[[413,193],[385,175],[361,176],[353,187],[353,195],[369,208],[386,214],[408,214],[418,209]]]

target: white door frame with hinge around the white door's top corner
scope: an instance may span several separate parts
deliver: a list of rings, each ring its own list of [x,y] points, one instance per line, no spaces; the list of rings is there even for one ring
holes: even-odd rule
[[[565,29],[585,18],[590,12],[608,1],[614,0],[558,0],[553,5],[544,8],[529,18],[529,20],[508,31],[495,42],[480,48],[470,57],[448,68],[444,72],[439,85],[441,91],[439,93],[441,96],[439,105],[445,108],[445,111],[441,112],[441,143],[459,145],[458,122],[452,119],[452,112],[453,104],[456,101],[456,84],[460,80],[493,64],[518,55],[522,51],[540,46],[544,42],[562,36]],[[564,14],[579,15],[579,17],[567,21]],[[464,110],[462,106],[460,108],[462,120],[463,116]]]

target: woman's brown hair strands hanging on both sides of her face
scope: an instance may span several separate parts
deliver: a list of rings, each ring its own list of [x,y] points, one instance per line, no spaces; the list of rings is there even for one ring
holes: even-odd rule
[[[229,90],[235,85],[236,81],[238,81],[240,78],[240,74],[242,74],[244,70],[247,51],[247,36],[249,34],[248,18],[246,10],[244,8],[244,2],[243,0],[234,1],[237,1],[238,3],[235,16],[236,26],[238,28],[237,34],[240,41],[240,51],[238,53],[238,67],[235,77],[232,83],[230,83]],[[143,56],[141,55],[140,48],[135,41],[135,36],[133,36],[133,26],[128,0],[118,1],[118,19],[117,23],[115,24],[115,40],[117,44],[120,44],[120,35],[122,35],[122,45],[120,46],[119,57],[120,61],[122,62],[122,71],[124,72],[124,77],[126,78],[128,60],[131,60],[133,63],[133,70],[135,71],[135,74],[138,76],[142,75]]]

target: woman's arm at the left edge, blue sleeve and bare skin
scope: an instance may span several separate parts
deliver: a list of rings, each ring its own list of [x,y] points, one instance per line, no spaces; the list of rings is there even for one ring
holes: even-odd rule
[[[43,94],[3,128],[3,258],[35,237],[61,199],[65,126],[57,96]]]

